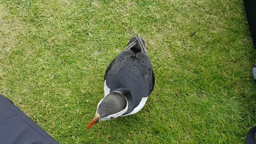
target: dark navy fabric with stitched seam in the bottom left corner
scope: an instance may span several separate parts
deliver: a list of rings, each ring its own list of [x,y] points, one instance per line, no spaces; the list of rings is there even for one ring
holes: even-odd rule
[[[0,95],[0,144],[59,144],[11,100]]]

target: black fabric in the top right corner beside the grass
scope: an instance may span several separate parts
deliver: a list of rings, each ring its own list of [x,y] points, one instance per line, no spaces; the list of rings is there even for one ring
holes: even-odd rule
[[[256,49],[256,0],[244,0],[244,7],[250,27],[252,42]]]

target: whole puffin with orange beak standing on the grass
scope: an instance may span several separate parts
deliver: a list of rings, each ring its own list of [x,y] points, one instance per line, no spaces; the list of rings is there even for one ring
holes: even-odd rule
[[[154,89],[155,77],[144,37],[134,34],[136,37],[130,38],[128,46],[106,68],[104,98],[86,129],[98,122],[136,114]]]

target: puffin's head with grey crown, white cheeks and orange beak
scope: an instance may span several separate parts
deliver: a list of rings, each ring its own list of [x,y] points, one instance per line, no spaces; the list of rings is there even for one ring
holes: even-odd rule
[[[96,110],[96,115],[86,129],[89,129],[92,125],[98,122],[117,118],[127,110],[128,102],[126,97],[121,92],[111,92],[100,100]]]

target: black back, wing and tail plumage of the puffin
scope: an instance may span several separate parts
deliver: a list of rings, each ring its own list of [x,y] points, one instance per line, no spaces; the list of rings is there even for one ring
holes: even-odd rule
[[[131,38],[128,45],[134,40],[137,39]],[[132,112],[142,98],[148,97],[154,89],[153,68],[144,49],[145,42],[141,42],[137,41],[130,50],[120,52],[109,64],[104,76],[110,92],[122,92],[128,100],[128,110],[123,115]]]

